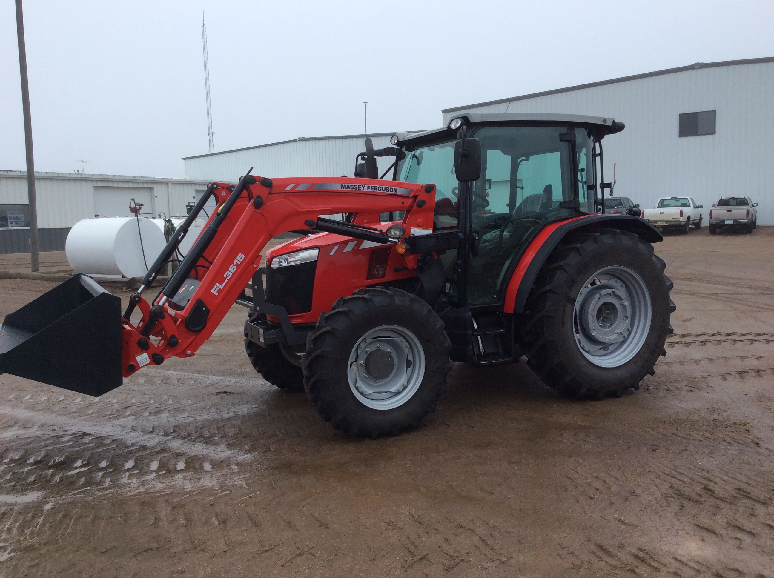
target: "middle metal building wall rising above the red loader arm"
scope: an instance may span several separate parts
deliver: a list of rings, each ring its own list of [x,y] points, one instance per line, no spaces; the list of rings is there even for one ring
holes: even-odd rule
[[[390,146],[393,133],[369,135],[375,149]],[[235,181],[251,166],[254,175],[284,176],[352,176],[355,156],[365,150],[365,135],[300,139],[278,142],[252,149],[220,152],[183,159],[186,178]],[[392,157],[378,158],[379,174],[392,164]]]

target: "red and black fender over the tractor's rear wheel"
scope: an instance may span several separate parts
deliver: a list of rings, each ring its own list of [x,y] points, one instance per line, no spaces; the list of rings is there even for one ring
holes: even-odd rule
[[[519,265],[516,265],[508,289],[505,290],[505,313],[522,313],[529,291],[532,289],[540,269],[543,268],[543,263],[570,231],[578,232],[594,228],[629,231],[649,243],[663,241],[663,235],[659,233],[658,229],[640,217],[596,214],[548,224],[529,244],[529,248],[522,255]]]

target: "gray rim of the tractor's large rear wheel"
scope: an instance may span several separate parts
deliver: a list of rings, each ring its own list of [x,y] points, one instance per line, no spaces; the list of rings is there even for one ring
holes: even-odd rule
[[[575,343],[591,363],[617,368],[645,344],[651,318],[650,293],[642,278],[620,265],[601,268],[575,299]]]

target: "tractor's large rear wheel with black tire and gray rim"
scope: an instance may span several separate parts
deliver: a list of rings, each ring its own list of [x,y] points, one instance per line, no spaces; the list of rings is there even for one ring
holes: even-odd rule
[[[639,389],[673,332],[673,284],[664,268],[652,245],[626,231],[565,239],[539,272],[522,315],[529,368],[577,398]]]

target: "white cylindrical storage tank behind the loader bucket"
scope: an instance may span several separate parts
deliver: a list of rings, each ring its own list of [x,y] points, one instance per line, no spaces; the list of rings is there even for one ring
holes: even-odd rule
[[[74,272],[132,278],[145,275],[165,245],[163,229],[150,219],[100,217],[78,221],[65,251]]]

